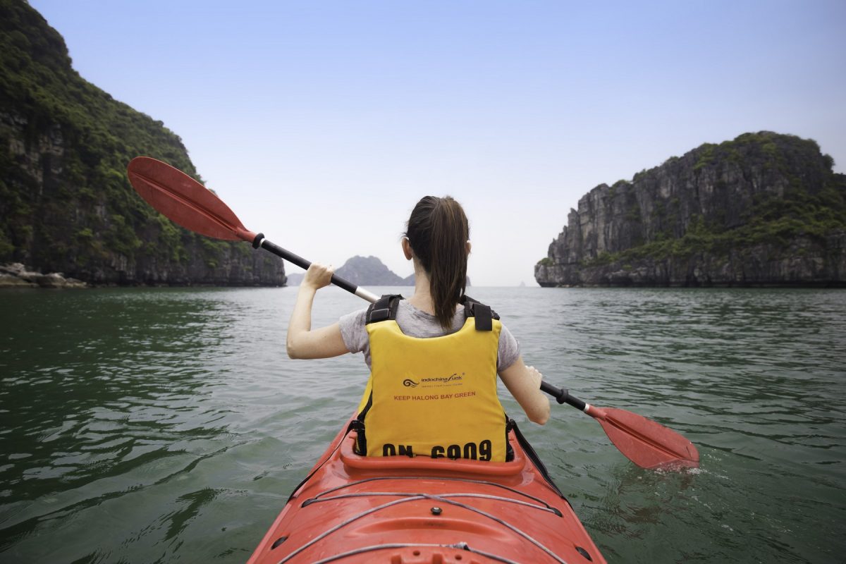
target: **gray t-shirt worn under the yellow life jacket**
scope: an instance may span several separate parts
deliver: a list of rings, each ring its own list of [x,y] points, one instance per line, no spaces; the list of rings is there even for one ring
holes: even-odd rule
[[[343,343],[347,345],[350,353],[365,353],[365,362],[367,367],[371,366],[370,356],[370,336],[365,329],[365,320],[367,316],[367,309],[360,309],[351,314],[343,315],[338,320],[338,325],[341,327],[341,337]],[[428,338],[428,337],[442,337],[449,335],[461,329],[464,326],[464,321],[467,320],[467,315],[464,313],[464,308],[456,311],[453,315],[453,326],[449,331],[444,331],[441,324],[438,323],[434,315],[427,314],[425,311],[415,308],[409,304],[407,299],[399,301],[397,309],[397,325],[409,337]],[[497,372],[502,372],[509,366],[514,364],[520,356],[520,345],[511,331],[508,331],[503,325],[502,331],[499,332],[499,348],[497,349]]]

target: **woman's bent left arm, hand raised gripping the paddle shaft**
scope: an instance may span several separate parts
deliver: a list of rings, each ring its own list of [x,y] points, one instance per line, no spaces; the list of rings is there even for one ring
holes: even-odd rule
[[[332,281],[332,267],[311,263],[299,284],[294,312],[288,323],[288,338],[285,341],[288,356],[292,359],[328,359],[349,353],[341,337],[337,323],[311,331],[311,305],[321,287]]]

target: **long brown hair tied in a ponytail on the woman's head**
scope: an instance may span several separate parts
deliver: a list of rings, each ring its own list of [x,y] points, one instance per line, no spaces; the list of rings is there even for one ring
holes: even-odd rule
[[[425,196],[411,211],[405,236],[429,275],[435,317],[448,329],[455,305],[467,287],[466,244],[470,225],[464,209],[449,196]]]

